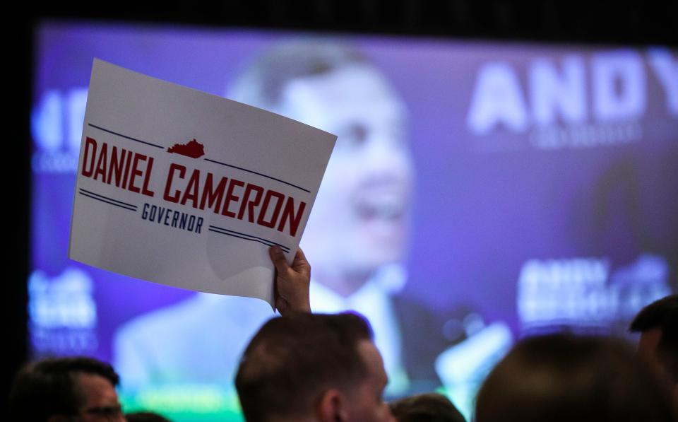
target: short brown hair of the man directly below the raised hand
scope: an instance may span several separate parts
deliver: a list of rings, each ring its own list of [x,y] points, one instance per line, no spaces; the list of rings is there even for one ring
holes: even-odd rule
[[[367,372],[357,344],[370,339],[367,321],[351,313],[269,320],[247,346],[235,379],[246,421],[300,418],[326,389],[350,389]]]

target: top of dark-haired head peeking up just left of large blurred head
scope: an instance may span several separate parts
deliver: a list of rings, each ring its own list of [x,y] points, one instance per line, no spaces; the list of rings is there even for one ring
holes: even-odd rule
[[[442,394],[417,394],[389,404],[398,422],[466,422],[464,416]]]

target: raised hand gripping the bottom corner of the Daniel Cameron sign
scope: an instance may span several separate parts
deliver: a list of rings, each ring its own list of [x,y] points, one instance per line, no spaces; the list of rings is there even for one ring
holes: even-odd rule
[[[278,245],[268,248],[270,260],[275,266],[275,308],[280,315],[290,312],[311,312],[309,285],[311,266],[301,249],[297,250],[292,266],[287,264],[285,254]]]

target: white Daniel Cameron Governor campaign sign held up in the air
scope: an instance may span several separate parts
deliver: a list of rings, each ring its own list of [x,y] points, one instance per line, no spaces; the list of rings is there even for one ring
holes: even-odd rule
[[[95,59],[69,257],[273,307],[336,136]]]

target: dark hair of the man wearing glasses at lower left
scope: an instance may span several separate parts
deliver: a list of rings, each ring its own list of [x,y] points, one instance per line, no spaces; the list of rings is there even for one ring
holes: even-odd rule
[[[11,421],[44,422],[49,416],[74,415],[83,401],[76,376],[100,375],[117,386],[111,365],[88,357],[47,358],[25,365],[16,375],[9,396]]]

